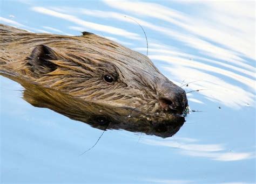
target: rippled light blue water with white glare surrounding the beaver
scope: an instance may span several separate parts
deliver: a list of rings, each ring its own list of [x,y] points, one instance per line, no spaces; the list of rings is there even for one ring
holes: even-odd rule
[[[187,94],[200,112],[173,137],[108,130],[80,155],[102,130],[33,107],[1,77],[2,182],[254,183],[254,3],[125,3],[2,1],[0,20],[33,32],[90,31],[145,54],[143,31],[123,15],[138,18],[160,71],[180,86],[197,81],[186,91],[204,89]]]

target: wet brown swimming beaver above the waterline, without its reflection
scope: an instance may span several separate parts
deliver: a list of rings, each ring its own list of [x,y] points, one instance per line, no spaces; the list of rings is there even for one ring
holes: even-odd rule
[[[86,102],[143,114],[151,124],[179,118],[187,107],[185,91],[147,56],[114,41],[88,32],[59,36],[1,24],[0,36],[4,76],[15,75]]]

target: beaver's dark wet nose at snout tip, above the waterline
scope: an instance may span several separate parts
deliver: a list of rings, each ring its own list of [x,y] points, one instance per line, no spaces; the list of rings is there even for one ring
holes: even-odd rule
[[[183,114],[187,107],[186,92],[171,81],[163,83],[160,91],[159,104],[161,110]]]

